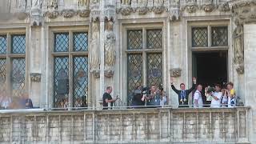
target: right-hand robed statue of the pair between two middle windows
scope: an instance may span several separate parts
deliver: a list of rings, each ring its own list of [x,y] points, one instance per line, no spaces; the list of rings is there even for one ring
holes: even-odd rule
[[[113,22],[107,21],[105,27],[105,64],[106,66],[114,66],[115,62],[115,35],[113,32]]]

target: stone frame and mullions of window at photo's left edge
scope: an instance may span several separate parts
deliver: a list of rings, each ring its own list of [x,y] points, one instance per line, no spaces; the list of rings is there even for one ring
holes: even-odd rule
[[[13,94],[13,85],[12,85],[12,67],[13,67],[13,59],[14,58],[23,58],[25,60],[25,79],[24,79],[24,87],[22,90],[28,90],[28,73],[29,73],[29,65],[28,62],[28,38],[29,35],[27,33],[26,28],[18,28],[18,29],[6,29],[0,30],[1,36],[6,36],[6,54],[0,54],[1,59],[6,59],[6,95],[9,97],[18,97]],[[23,54],[15,54],[12,53],[12,37],[15,35],[25,35],[25,53]],[[19,94],[21,94],[22,90]]]

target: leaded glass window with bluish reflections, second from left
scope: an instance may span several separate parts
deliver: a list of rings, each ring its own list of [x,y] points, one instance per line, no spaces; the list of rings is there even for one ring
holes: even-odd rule
[[[88,85],[87,32],[55,33],[54,107],[86,107]]]

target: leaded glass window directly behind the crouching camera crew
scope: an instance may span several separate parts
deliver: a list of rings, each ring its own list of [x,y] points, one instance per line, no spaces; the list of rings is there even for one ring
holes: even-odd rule
[[[127,30],[127,105],[138,86],[162,84],[162,29]]]

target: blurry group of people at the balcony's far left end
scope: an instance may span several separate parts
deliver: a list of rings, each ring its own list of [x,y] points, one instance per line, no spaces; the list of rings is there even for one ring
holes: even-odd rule
[[[29,98],[29,94],[23,91],[20,97],[9,97],[5,91],[0,91],[0,109],[31,109],[33,102]]]

